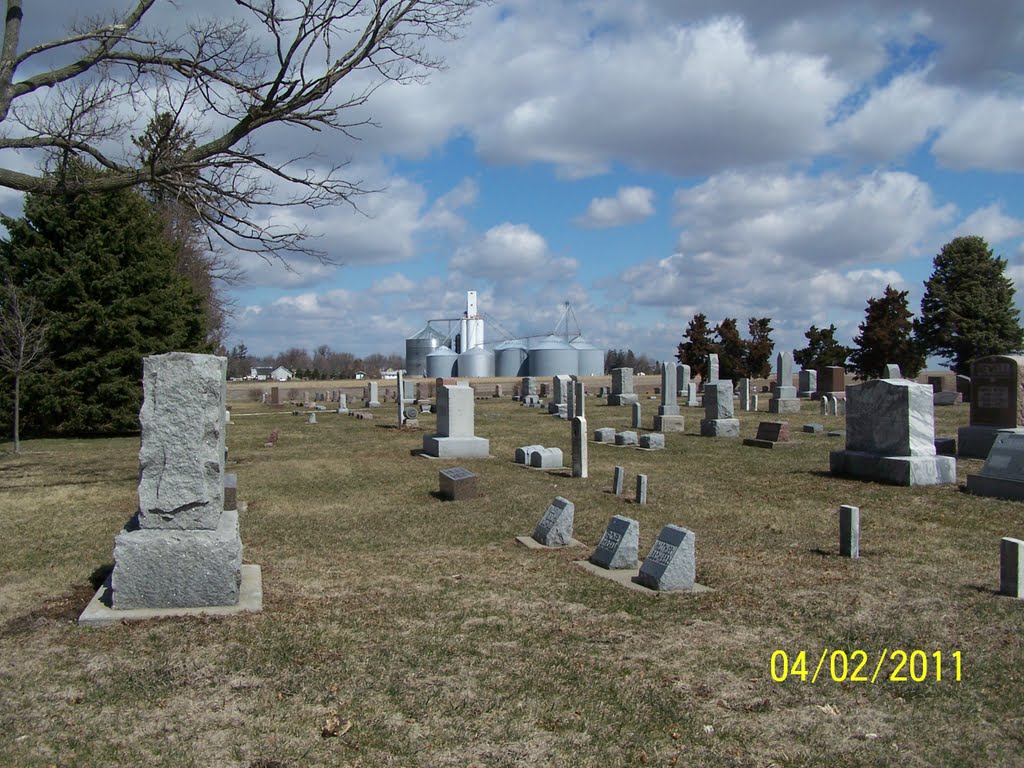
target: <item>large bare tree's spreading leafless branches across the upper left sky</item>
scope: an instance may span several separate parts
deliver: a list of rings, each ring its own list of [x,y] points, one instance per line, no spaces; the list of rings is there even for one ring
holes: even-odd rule
[[[0,51],[0,159],[45,153],[48,172],[0,162],[0,186],[36,193],[146,185],[195,210],[227,247],[267,257],[312,249],[308,232],[276,225],[267,206],[325,206],[372,189],[344,165],[307,170],[307,157],[261,152],[254,135],[275,125],[345,136],[382,83],[440,66],[427,48],[452,38],[487,0],[215,0],[212,17],[181,34],[147,30],[147,14],[174,0],[130,0],[113,19],[80,24],[61,39],[22,49],[23,0],[7,0]],[[128,0],[125,0],[128,2]],[[231,10],[241,16],[230,16]],[[352,89],[341,93],[349,78]],[[167,114],[183,153],[129,140],[139,116]],[[159,137],[158,137],[159,138]],[[74,174],[71,159],[106,172]]]

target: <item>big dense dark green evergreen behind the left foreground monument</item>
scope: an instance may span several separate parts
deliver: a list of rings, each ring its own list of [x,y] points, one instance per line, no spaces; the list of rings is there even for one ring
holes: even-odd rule
[[[161,217],[122,190],[30,194],[24,218],[2,222],[0,279],[39,302],[48,329],[50,365],[25,382],[25,427],[136,430],[142,357],[208,349],[202,299],[176,273]]]

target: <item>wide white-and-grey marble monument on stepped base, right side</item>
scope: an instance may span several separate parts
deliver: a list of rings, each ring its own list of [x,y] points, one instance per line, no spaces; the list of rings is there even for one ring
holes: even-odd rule
[[[833,474],[894,485],[956,482],[956,460],[936,456],[932,388],[876,379],[846,390],[846,450],[828,457]]]

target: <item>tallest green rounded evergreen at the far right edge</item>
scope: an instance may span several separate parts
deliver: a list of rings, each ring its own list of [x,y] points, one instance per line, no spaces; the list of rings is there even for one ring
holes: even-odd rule
[[[1006,259],[977,236],[954,238],[935,257],[914,330],[926,351],[944,357],[958,374],[969,374],[975,357],[1024,347],[1006,267]]]

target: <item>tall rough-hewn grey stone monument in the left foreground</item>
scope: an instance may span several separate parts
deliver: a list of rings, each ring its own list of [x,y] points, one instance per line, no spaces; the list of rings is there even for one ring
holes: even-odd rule
[[[227,359],[146,357],[138,512],[114,543],[111,606],[234,605],[242,582],[239,514],[224,510]]]

